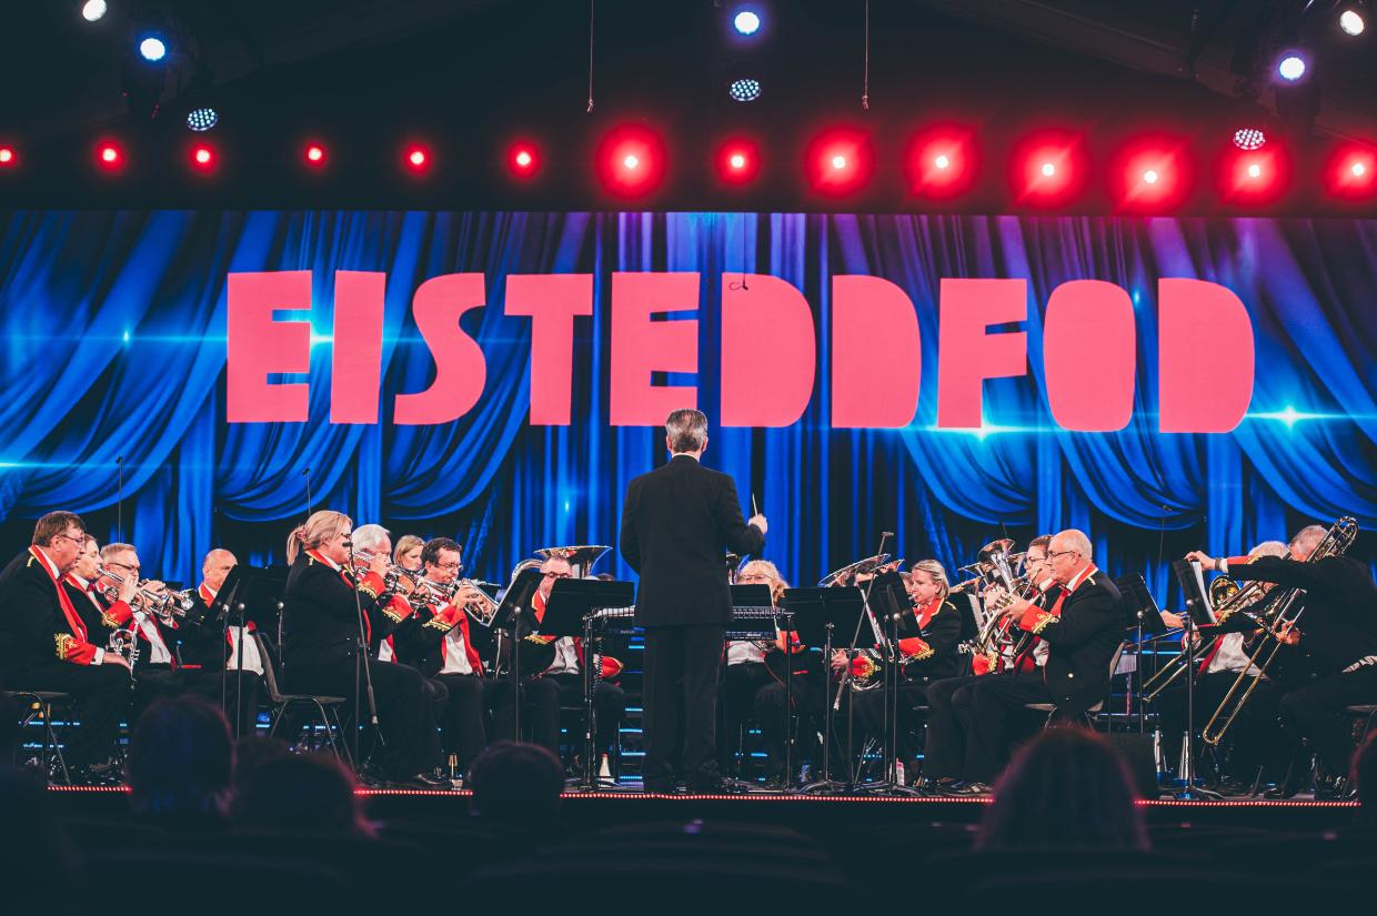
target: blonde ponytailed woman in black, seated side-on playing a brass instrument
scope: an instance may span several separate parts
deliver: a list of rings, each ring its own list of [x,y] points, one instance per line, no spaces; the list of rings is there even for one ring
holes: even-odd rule
[[[353,533],[348,515],[322,510],[288,536],[282,663],[291,690],[358,696],[361,715],[368,716],[361,636],[364,652],[376,652],[390,625],[401,621],[392,620],[398,612],[390,607],[386,587],[388,554],[375,554],[365,572],[357,574],[350,569]],[[386,748],[375,748],[381,776],[435,787],[437,781],[424,773],[424,722],[430,709],[424,678],[409,665],[370,664],[369,671],[386,738]],[[353,716],[353,702],[344,704],[346,715]]]

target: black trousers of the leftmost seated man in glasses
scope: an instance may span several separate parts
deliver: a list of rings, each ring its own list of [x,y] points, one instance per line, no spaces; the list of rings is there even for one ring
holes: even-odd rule
[[[62,756],[69,767],[101,763],[114,753],[120,719],[134,698],[129,672],[120,665],[74,665],[51,661],[8,672],[10,690],[48,690],[72,694],[77,727],[63,729]]]

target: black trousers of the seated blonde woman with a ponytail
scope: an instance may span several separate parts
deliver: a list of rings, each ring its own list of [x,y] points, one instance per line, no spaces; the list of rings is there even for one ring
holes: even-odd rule
[[[383,747],[372,745],[372,734],[365,731],[361,756],[372,752],[373,762],[390,780],[409,780],[427,769],[427,729],[435,729],[434,707],[425,694],[425,679],[410,665],[387,661],[370,664],[373,697],[377,700],[377,722],[383,733]],[[317,693],[335,697],[354,696],[354,661],[332,665],[293,665],[288,671],[293,693]],[[359,716],[368,722],[368,685],[359,678]],[[340,708],[346,734],[353,727],[354,704]],[[347,738],[346,738],[347,740]],[[361,760],[362,762],[362,760]]]

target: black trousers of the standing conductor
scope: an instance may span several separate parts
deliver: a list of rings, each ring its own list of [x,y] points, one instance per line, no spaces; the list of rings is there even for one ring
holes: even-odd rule
[[[676,778],[711,788],[716,758],[717,676],[722,624],[646,628],[643,774],[646,788],[666,789]]]

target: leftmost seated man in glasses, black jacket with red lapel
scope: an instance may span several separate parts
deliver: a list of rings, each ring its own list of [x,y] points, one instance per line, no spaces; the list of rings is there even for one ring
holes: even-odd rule
[[[0,573],[0,671],[11,690],[72,696],[80,725],[63,731],[63,756],[73,780],[94,784],[117,781],[107,760],[131,691],[129,667],[92,642],[103,634],[91,632],[61,585],[85,537],[80,515],[48,512]]]

